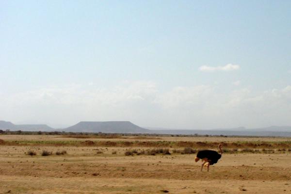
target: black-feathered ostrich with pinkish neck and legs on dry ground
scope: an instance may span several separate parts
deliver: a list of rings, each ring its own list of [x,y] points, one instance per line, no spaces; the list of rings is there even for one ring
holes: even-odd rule
[[[195,158],[195,162],[198,162],[200,159],[202,160],[203,163],[201,166],[201,171],[204,165],[207,166],[207,171],[209,171],[209,165],[213,165],[217,163],[217,161],[221,158],[221,155],[222,155],[221,146],[222,146],[221,144],[219,144],[218,146],[220,150],[220,154],[217,151],[213,151],[213,150],[198,151],[197,156]]]

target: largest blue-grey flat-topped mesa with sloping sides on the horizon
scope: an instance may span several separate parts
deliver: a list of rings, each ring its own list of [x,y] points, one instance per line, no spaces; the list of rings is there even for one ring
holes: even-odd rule
[[[150,133],[150,130],[141,128],[129,121],[81,121],[68,127],[70,132],[104,132],[104,133]]]

